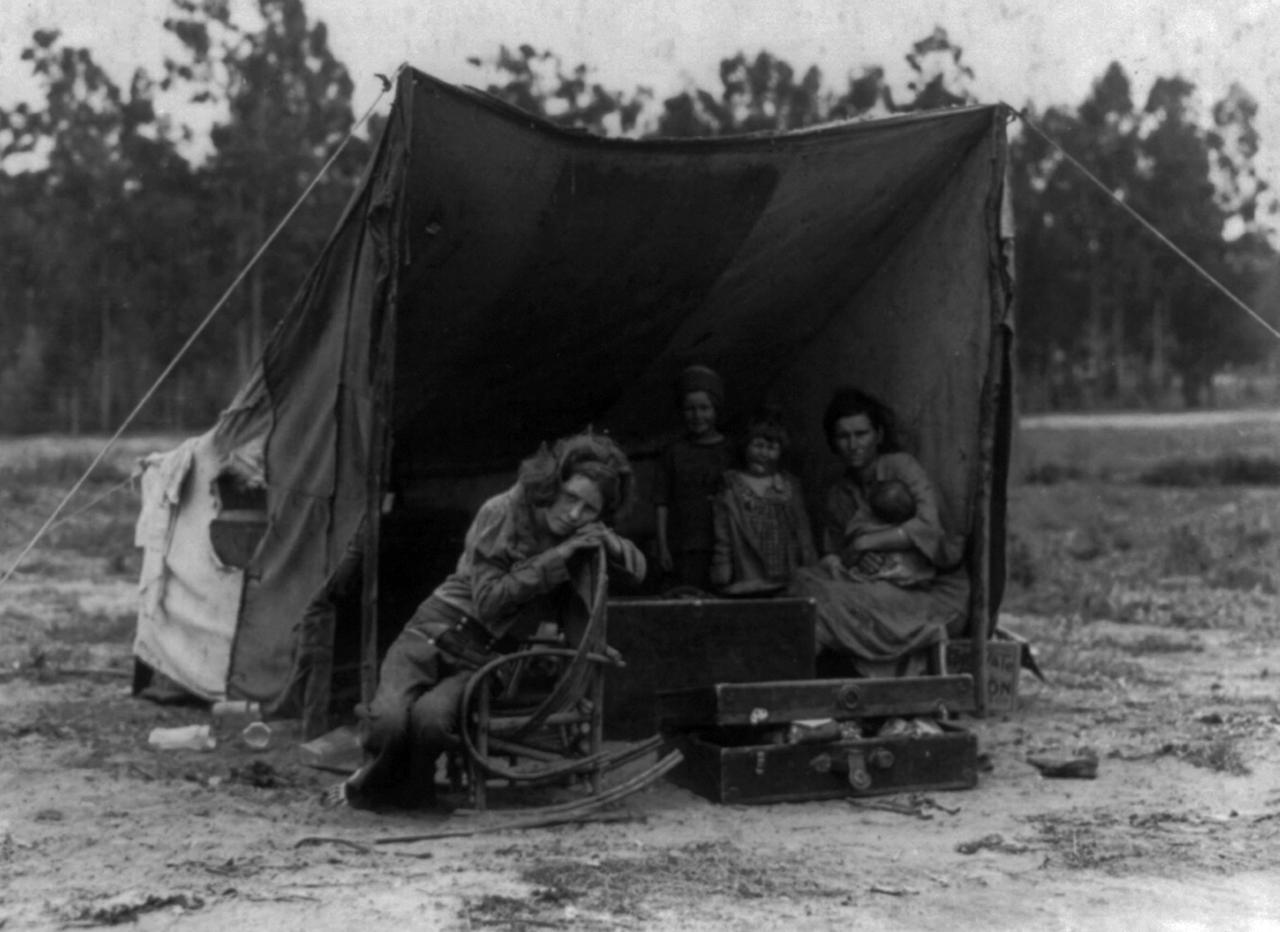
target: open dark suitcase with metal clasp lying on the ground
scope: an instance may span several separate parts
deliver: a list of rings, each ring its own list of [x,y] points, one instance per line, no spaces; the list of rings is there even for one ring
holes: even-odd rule
[[[978,741],[947,719],[973,709],[968,675],[716,684],[658,695],[660,727],[685,758],[668,778],[716,803],[970,789]],[[893,719],[905,731],[879,734]]]

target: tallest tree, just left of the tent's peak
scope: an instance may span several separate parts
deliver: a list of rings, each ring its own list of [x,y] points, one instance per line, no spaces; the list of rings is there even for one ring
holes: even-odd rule
[[[352,129],[353,83],[334,56],[328,28],[302,0],[257,0],[253,22],[225,0],[173,0],[165,28],[179,40],[166,61],[165,90],[210,108],[211,151],[200,166],[211,195],[209,223],[219,248],[206,277],[225,284],[246,266],[329,155]],[[319,255],[355,188],[367,146],[357,142],[283,230],[269,261],[255,265],[237,296],[234,328],[243,378]],[[215,342],[221,342],[215,341]]]

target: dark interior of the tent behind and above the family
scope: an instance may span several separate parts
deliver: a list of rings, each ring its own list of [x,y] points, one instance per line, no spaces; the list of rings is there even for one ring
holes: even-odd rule
[[[591,428],[628,451],[641,494],[620,530],[652,554],[654,461],[680,433],[675,380],[695,362],[724,380],[731,435],[765,402],[782,412],[785,465],[813,512],[838,472],[827,398],[856,385],[888,402],[968,536],[983,631],[1010,430],[1005,119],[966,108],[602,140],[403,76],[329,256],[356,269],[339,279],[348,294],[372,296],[349,298],[338,339],[366,347],[374,414],[338,430],[374,465],[339,463],[334,507],[376,515],[379,655],[454,566],[476,507],[544,442]],[[320,303],[332,312],[332,293]],[[358,654],[358,625],[338,636],[338,657]]]

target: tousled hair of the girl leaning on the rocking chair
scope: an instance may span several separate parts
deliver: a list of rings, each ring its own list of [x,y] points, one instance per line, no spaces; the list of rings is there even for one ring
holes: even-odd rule
[[[590,479],[600,489],[603,521],[625,513],[635,497],[635,475],[627,454],[609,437],[590,430],[561,438],[550,447],[544,443],[520,463],[516,481],[531,506],[545,508],[573,476]]]

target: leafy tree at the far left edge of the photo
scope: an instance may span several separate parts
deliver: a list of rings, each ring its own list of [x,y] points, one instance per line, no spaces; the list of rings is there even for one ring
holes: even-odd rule
[[[143,72],[120,87],[56,29],[36,31],[22,58],[42,99],[0,119],[0,328],[13,366],[0,426],[106,430],[182,301],[169,248],[184,219],[154,195],[187,165]]]

